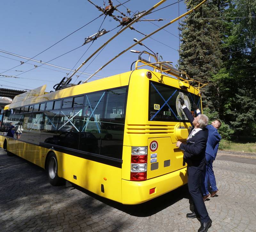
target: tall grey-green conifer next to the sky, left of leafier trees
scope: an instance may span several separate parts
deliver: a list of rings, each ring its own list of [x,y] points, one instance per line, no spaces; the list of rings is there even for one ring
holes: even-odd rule
[[[200,1],[186,0],[187,8],[191,9]],[[209,83],[201,89],[203,106],[216,111],[214,105],[218,98],[218,91],[209,77],[216,74],[221,67],[221,31],[219,1],[207,1],[199,9],[190,13],[182,23],[180,68],[188,75],[201,82]],[[214,18],[214,19],[212,19]],[[217,109],[218,110],[218,109]]]

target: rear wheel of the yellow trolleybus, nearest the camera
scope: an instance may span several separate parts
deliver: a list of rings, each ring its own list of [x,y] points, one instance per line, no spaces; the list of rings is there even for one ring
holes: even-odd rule
[[[64,179],[58,176],[58,162],[54,153],[50,153],[48,156],[46,171],[49,182],[53,186],[62,185],[64,183]]]

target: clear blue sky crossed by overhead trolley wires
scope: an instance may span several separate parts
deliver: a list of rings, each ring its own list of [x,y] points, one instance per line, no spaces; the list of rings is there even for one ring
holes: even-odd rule
[[[122,3],[125,2],[124,0],[119,1]],[[103,6],[102,0],[92,0],[92,2],[101,7]],[[108,0],[106,0],[106,2],[108,3]],[[131,0],[124,5],[131,11],[135,12],[148,10],[157,2],[158,1],[156,0]],[[176,0],[167,0],[157,9],[175,2]],[[113,0],[113,4],[116,5],[118,2]],[[119,6],[118,10],[126,14],[125,7]],[[186,11],[187,9],[184,5],[184,1],[180,2],[180,15]],[[76,29],[84,26],[86,23],[99,16],[100,13],[101,12],[98,11],[95,6],[86,0],[2,1],[0,50],[32,58],[36,54],[52,46],[57,41],[63,39],[65,36],[72,33]],[[115,15],[117,15],[117,13],[115,13]],[[161,18],[169,19],[170,21],[178,17],[178,15],[178,4],[174,4],[170,7],[156,11],[146,16],[145,19]],[[99,19],[96,19],[88,26],[85,26],[81,30],[70,35],[65,40],[56,44],[51,49],[48,49],[42,54],[36,56],[34,59],[48,62],[57,56],[60,56],[72,49],[81,46],[84,43],[85,37],[95,34],[98,31],[103,19],[104,16],[101,16]],[[154,21],[154,23],[158,26],[163,26],[169,21]],[[118,22],[110,17],[107,17],[104,20],[101,29],[104,28],[106,30],[110,30],[117,25]],[[136,22],[133,24],[133,26],[135,29],[144,34],[149,34],[157,29],[157,26],[145,21]],[[75,66],[76,69],[88,56],[90,56],[97,48],[104,44],[105,41],[112,37],[119,28],[104,36],[99,37],[96,41],[94,41],[89,49],[88,47],[91,43],[87,43],[81,48],[49,62],[49,64],[54,64],[69,69],[72,69]],[[179,59],[179,53],[177,51],[179,49],[178,22],[166,27],[165,30],[168,32],[162,30],[152,36],[152,38],[161,43],[150,38],[144,40],[143,43],[153,51],[158,52],[159,55],[163,56],[164,60],[172,61],[175,65]],[[95,58],[95,60],[86,70],[84,69],[90,63],[90,61],[87,65],[85,64],[80,71],[93,73],[112,57],[116,56],[119,52],[132,45],[134,43],[133,38],[141,39],[142,37],[142,34],[131,29],[126,29],[122,34],[118,35],[113,41],[111,41],[105,47],[105,49],[103,49],[100,55]],[[172,47],[173,49],[163,45],[162,43]],[[79,61],[86,49],[88,49],[88,51]],[[133,49],[141,51],[143,47],[136,45]],[[137,60],[137,58],[138,54],[126,52],[117,58],[114,62],[106,66],[105,69],[100,71],[97,75],[108,77],[114,74],[129,71],[132,62]],[[27,63],[20,65],[20,61],[25,62],[26,59],[0,52],[0,73],[2,73],[0,75],[18,75],[18,78],[6,78],[0,76],[0,85],[2,85],[0,87],[10,89],[33,89],[46,84],[46,90],[50,91],[53,90],[52,86],[60,82],[60,80],[67,75],[66,73],[69,72],[50,67],[48,65],[43,65],[34,70],[28,71],[29,69],[34,68],[34,65],[40,64],[33,61],[28,61]],[[17,65],[19,66],[10,71],[6,71]],[[21,71],[28,72],[23,73]],[[72,83],[77,83],[79,80],[85,80],[86,78],[88,78],[88,76],[84,74],[79,76],[78,79],[76,79],[76,76],[74,76]],[[98,78],[92,78],[91,81],[93,79]]]

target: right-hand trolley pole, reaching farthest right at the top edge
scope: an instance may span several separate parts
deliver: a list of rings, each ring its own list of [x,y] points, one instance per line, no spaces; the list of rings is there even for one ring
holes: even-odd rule
[[[138,43],[140,43],[141,41],[147,39],[148,37],[150,37],[151,35],[159,32],[160,30],[164,29],[166,26],[171,25],[172,23],[176,22],[177,20],[179,20],[180,18],[183,18],[184,16],[190,14],[192,11],[196,10],[198,7],[200,7],[202,4],[204,4],[207,0],[202,1],[201,3],[199,3],[198,5],[196,5],[194,8],[192,8],[191,10],[187,11],[186,13],[180,15],[179,17],[177,17],[176,19],[172,19],[172,21],[170,21],[169,23],[165,24],[162,27],[159,27],[156,31],[148,34],[147,36],[143,37],[141,40],[139,40],[138,42],[132,44],[132,46],[130,46],[129,48],[125,49],[124,51],[120,52],[117,56],[115,56],[113,59],[111,59],[110,61],[108,61],[108,63],[104,64],[102,67],[100,67],[96,72],[94,72],[90,77],[88,77],[83,83],[87,82],[90,78],[92,78],[96,73],[98,73],[100,70],[102,70],[104,67],[106,67],[109,63],[111,63],[113,60],[115,60],[118,56],[121,56],[122,54],[124,54],[126,51],[128,51],[129,49],[131,49],[132,47],[134,47],[135,45],[137,45]]]

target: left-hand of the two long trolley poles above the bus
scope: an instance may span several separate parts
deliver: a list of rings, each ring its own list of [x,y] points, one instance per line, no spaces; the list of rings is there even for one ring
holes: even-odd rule
[[[100,51],[100,49],[102,49],[103,47],[105,47],[110,41],[112,41],[113,39],[116,38],[117,35],[119,35],[120,33],[122,33],[124,30],[126,30],[127,28],[129,28],[133,23],[137,22],[139,19],[141,19],[143,16],[147,15],[150,11],[156,9],[156,7],[160,6],[161,4],[163,4],[166,0],[161,0],[160,2],[158,2],[157,4],[155,4],[153,7],[151,7],[148,11],[144,12],[143,14],[140,15],[140,17],[134,19],[132,22],[130,22],[129,24],[127,24],[123,29],[121,29],[118,33],[116,33],[113,37],[111,37],[106,43],[104,43],[102,46],[100,46],[100,48],[98,48],[94,53],[92,53],[91,56],[89,56],[77,69],[76,71],[74,71],[71,76],[66,80],[65,83],[67,83],[69,81],[69,79],[71,79],[76,72],[84,65],[86,64],[86,62],[88,62],[88,60],[90,60],[92,58],[92,56],[94,56],[98,51]],[[94,75],[94,74],[93,74]],[[92,76],[91,76],[92,77]],[[90,78],[91,78],[90,77]],[[65,85],[65,84],[64,84]]]

